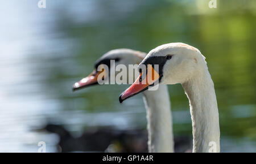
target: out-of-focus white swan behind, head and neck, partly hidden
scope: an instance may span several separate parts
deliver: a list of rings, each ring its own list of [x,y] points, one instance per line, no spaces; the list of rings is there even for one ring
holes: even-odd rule
[[[110,67],[110,60],[114,60],[115,66],[125,64],[128,68],[128,64],[139,64],[145,56],[146,53],[130,49],[111,50],[96,61],[95,67],[96,70],[100,64],[106,64]],[[114,69],[114,67],[110,67],[110,69]],[[110,69],[109,72],[111,72]],[[73,90],[98,84],[97,77],[100,72],[96,70],[88,77],[75,83]],[[129,79],[134,81],[134,75],[128,73],[126,80],[129,81]],[[156,91],[146,90],[143,92],[143,99],[147,111],[148,152],[174,152],[171,107],[167,85],[162,85]]]

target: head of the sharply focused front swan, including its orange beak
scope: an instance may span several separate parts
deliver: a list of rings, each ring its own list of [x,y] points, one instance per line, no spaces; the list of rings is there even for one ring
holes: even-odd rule
[[[158,70],[155,70],[157,64]],[[199,71],[207,69],[204,56],[196,48],[183,43],[171,43],[158,46],[152,49],[143,61],[139,64],[138,69],[146,67],[146,72],[141,72],[138,79],[119,97],[119,102],[132,97],[148,87],[156,84],[177,84],[185,83],[193,76],[197,76]],[[148,66],[152,72],[158,73],[151,83],[144,83],[148,79]],[[156,74],[154,73],[154,74]],[[143,77],[143,74],[146,76]],[[147,80],[148,81],[148,80]]]

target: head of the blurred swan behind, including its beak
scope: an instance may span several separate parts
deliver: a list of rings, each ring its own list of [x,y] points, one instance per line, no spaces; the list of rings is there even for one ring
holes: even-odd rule
[[[112,78],[109,78],[110,72],[115,72],[115,75],[118,74],[118,72],[115,71],[116,66],[118,66],[119,64],[123,64],[126,67],[128,67],[129,64],[139,64],[145,56],[146,56],[146,53],[143,53],[141,51],[131,50],[131,49],[110,50],[104,55],[102,55],[102,57],[97,59],[97,61],[94,63],[93,72],[87,77],[84,77],[83,79],[81,79],[80,81],[77,81],[73,85],[72,89],[78,90],[84,87],[89,87],[91,85],[99,84],[97,79],[98,79],[98,76],[100,76],[100,74],[102,73],[104,75],[102,76],[102,80],[110,80],[110,83],[111,83]],[[129,81],[130,78],[133,78],[133,79],[135,78],[134,76],[131,76],[131,75],[133,74],[127,74],[127,77],[124,77],[126,78],[125,80]]]

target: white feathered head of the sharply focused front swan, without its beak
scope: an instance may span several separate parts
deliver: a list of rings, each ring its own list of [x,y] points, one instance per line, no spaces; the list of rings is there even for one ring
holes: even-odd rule
[[[151,50],[139,64],[158,64],[160,84],[185,83],[206,66],[200,51],[183,43],[171,43]]]

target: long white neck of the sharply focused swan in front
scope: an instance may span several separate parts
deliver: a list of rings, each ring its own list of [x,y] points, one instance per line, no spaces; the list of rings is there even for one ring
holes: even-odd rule
[[[189,99],[193,152],[220,152],[220,126],[214,84],[208,70],[182,84]]]

